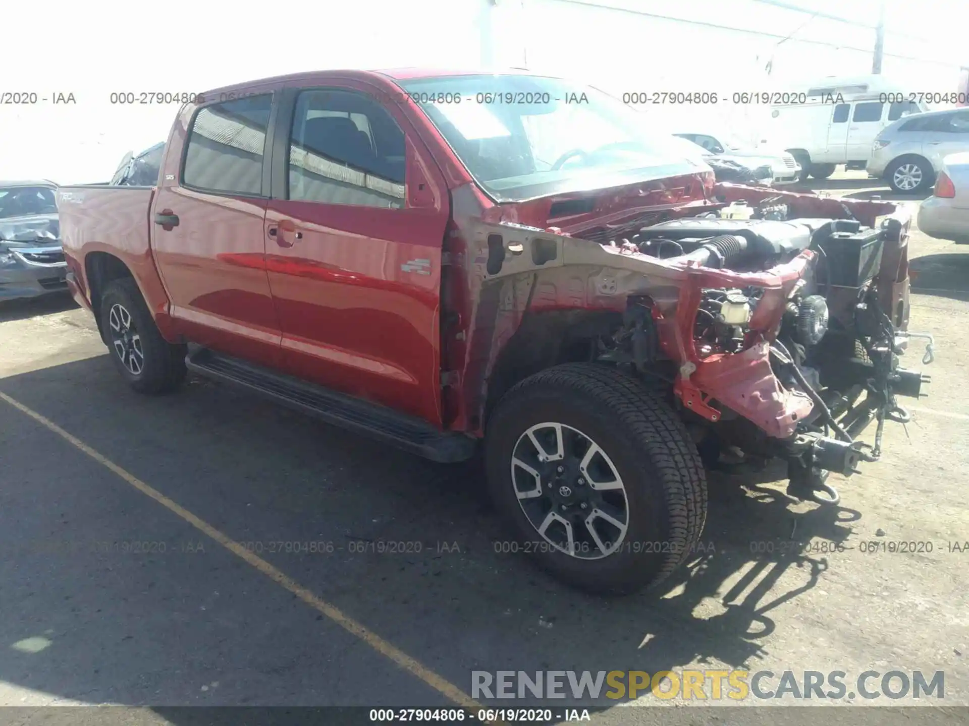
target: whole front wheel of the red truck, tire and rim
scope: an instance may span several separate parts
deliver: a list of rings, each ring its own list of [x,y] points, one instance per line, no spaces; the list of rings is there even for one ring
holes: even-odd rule
[[[513,539],[583,590],[656,585],[696,552],[706,519],[697,448],[636,378],[566,364],[518,383],[487,426],[488,488]]]

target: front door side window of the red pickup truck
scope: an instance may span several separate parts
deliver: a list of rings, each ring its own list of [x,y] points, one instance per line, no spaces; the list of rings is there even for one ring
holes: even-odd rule
[[[290,135],[289,198],[400,208],[404,133],[387,110],[351,91],[303,91]]]

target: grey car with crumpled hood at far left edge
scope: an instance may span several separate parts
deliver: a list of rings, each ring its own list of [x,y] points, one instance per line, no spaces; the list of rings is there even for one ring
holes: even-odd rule
[[[0,182],[0,299],[66,290],[57,185]]]

